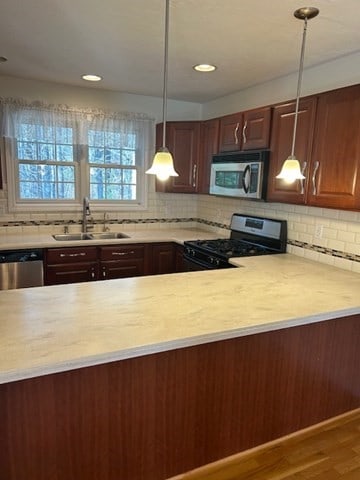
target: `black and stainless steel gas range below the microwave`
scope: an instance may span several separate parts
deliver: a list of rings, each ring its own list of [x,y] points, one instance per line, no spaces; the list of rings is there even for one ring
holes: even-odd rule
[[[188,271],[233,267],[231,257],[271,255],[286,252],[287,222],[234,213],[230,238],[184,242]]]

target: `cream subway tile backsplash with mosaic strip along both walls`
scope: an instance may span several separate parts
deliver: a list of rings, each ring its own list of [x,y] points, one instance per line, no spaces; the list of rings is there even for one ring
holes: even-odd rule
[[[0,191],[1,233],[58,233],[65,225],[74,231],[80,228],[80,211],[7,214],[2,193]],[[147,210],[108,212],[106,224],[122,230],[154,228],[155,224],[156,228],[200,226],[224,233],[234,212],[287,220],[288,252],[360,273],[360,212],[150,191]],[[95,211],[92,221],[101,226],[104,212]]]

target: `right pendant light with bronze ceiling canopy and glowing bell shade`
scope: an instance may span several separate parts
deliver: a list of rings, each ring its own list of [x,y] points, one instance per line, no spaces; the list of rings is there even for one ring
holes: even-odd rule
[[[302,74],[304,69],[304,54],[305,54],[305,41],[306,41],[306,31],[307,31],[307,22],[311,18],[314,18],[318,15],[319,10],[315,7],[302,7],[298,10],[295,10],[294,16],[299,20],[304,20],[304,30],[303,30],[303,39],[301,45],[301,54],[300,54],[300,65],[299,65],[299,76],[297,84],[297,93],[296,93],[296,104],[295,104],[295,117],[294,117],[294,130],[291,146],[291,154],[283,163],[281,172],[276,178],[285,180],[287,183],[293,183],[295,180],[304,180],[305,177],[300,168],[300,162],[295,156],[295,140],[296,140],[296,129],[298,123],[299,115],[299,101],[300,101],[300,91],[301,91],[301,81]]]

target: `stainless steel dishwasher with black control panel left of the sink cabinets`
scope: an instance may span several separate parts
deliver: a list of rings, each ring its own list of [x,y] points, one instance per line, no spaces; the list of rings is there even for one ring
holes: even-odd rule
[[[0,251],[0,290],[44,285],[41,249]]]

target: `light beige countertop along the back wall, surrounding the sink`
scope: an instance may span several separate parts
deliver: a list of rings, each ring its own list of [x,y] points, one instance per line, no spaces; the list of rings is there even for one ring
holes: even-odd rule
[[[128,235],[128,238],[116,238],[112,240],[73,240],[58,241],[51,233],[5,233],[0,234],[0,250],[21,249],[21,248],[59,248],[72,246],[91,246],[121,243],[149,243],[149,242],[176,242],[183,243],[185,240],[205,240],[219,238],[223,235],[201,230],[199,228],[154,228],[128,230],[121,229]],[[60,233],[60,232],[58,232]],[[93,233],[92,231],[89,232]],[[230,231],[226,237],[230,236]]]

